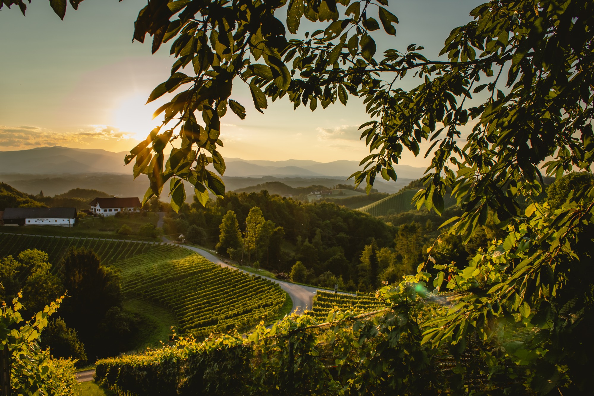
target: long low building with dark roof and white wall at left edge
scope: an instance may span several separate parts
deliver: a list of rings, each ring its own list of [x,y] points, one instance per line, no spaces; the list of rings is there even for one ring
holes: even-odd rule
[[[4,225],[61,225],[71,227],[76,221],[75,208],[6,208]]]

